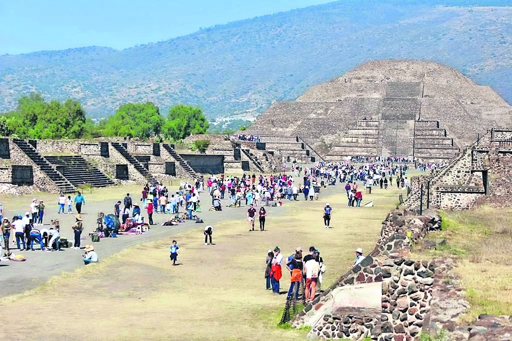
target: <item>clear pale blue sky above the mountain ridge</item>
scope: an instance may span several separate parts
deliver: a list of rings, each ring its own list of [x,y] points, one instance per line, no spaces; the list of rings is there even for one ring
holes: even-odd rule
[[[122,50],[333,0],[0,0],[0,55]]]

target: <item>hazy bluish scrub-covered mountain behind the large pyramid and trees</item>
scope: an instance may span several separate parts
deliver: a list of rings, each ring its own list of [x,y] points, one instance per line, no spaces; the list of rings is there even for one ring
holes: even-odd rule
[[[441,6],[444,4],[444,6]],[[512,7],[502,1],[338,1],[231,22],[118,51],[86,47],[0,56],[0,112],[19,97],[79,100],[91,117],[126,102],[177,103],[215,119],[273,101],[374,59],[454,67],[512,103]]]

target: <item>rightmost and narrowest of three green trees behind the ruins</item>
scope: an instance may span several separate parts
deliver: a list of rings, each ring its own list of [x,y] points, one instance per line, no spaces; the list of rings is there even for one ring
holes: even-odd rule
[[[163,133],[166,138],[182,140],[190,134],[206,133],[208,126],[201,108],[179,104],[169,109]]]

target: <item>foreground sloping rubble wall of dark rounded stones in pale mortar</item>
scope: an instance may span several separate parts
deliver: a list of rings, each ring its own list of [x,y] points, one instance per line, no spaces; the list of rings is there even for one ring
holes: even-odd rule
[[[406,340],[418,335],[429,318],[436,264],[405,258],[413,243],[441,228],[441,219],[409,216],[407,211],[391,212],[382,223],[381,237],[374,251],[359,265],[340,277],[292,320],[294,327],[310,325],[310,338],[362,340]],[[381,311],[346,308],[331,313],[329,307],[340,287],[361,283],[382,283]]]

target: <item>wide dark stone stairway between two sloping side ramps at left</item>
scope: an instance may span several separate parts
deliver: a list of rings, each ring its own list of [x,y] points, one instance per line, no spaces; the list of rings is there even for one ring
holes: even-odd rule
[[[115,185],[109,177],[89,164],[80,155],[45,156],[46,160],[62,173],[74,186],[91,184],[92,187]]]

